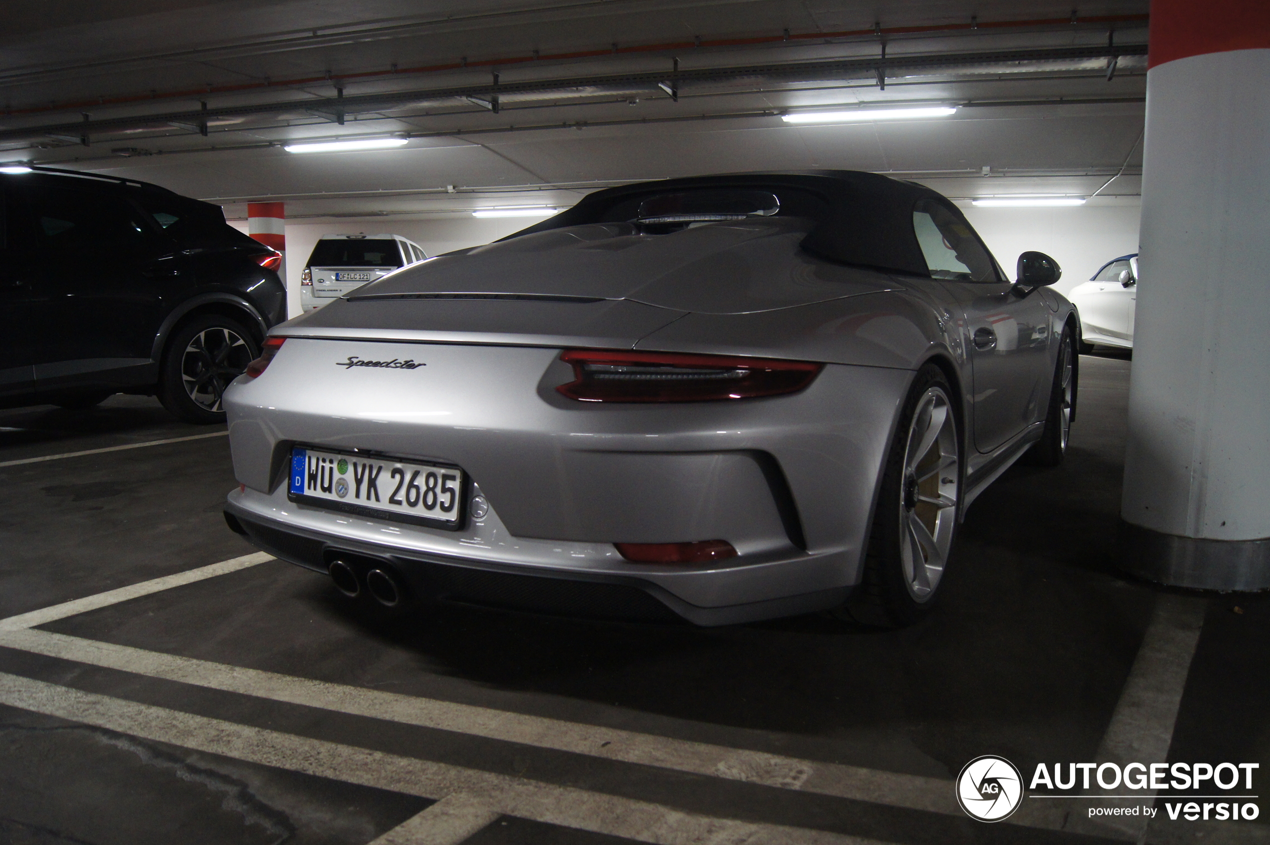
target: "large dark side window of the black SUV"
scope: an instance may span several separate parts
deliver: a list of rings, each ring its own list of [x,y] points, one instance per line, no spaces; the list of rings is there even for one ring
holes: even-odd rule
[[[142,249],[151,230],[128,203],[108,193],[75,189],[33,191],[32,221],[46,249],[132,252]]]

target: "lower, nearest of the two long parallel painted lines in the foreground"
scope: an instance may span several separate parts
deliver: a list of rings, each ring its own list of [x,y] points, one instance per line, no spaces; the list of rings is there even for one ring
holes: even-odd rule
[[[660,804],[476,769],[296,737],[0,673],[0,704],[319,778],[441,799],[461,793],[491,811],[657,845],[876,845],[804,827],[686,813]]]

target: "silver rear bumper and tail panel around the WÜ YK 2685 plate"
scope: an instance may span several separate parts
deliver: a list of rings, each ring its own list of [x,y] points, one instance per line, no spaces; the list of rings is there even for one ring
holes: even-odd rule
[[[243,484],[230,512],[316,541],[287,551],[281,535],[251,534],[316,569],[339,548],[401,569],[626,585],[698,624],[832,606],[859,582],[911,371],[828,365],[803,391],[737,403],[577,403],[554,389],[572,377],[559,355],[290,337],[263,376],[226,391]],[[417,366],[345,366],[354,356]],[[442,530],[291,502],[296,445],[458,466],[488,515]],[[640,564],[613,546],[715,539],[737,557]]]

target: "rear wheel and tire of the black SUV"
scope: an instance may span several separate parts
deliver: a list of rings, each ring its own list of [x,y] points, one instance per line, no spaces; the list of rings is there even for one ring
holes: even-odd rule
[[[237,320],[220,314],[194,318],[168,341],[159,370],[159,400],[185,422],[225,422],[225,388],[259,357],[255,338]]]

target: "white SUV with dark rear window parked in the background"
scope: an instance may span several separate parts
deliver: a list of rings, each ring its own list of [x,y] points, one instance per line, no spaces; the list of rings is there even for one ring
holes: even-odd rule
[[[333,299],[422,262],[423,247],[401,235],[323,235],[300,274],[300,306],[316,311]]]

